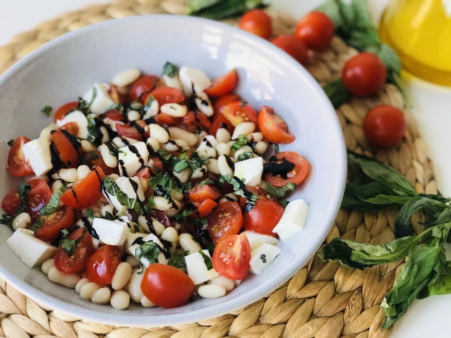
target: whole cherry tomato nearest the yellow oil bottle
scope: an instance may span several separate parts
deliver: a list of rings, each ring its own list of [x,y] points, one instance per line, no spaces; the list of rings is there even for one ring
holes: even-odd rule
[[[343,67],[342,81],[345,88],[356,96],[376,94],[387,80],[384,63],[372,53],[359,53]]]

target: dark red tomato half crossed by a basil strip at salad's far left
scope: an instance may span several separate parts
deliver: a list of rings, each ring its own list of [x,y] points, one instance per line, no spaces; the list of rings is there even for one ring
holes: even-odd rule
[[[47,182],[40,178],[29,180],[27,183],[30,184],[31,188],[28,193],[25,212],[28,212],[31,219],[34,221],[41,216],[40,210],[42,207],[49,203],[50,197],[52,197],[52,191],[47,185]],[[10,216],[14,216],[18,211],[20,204],[21,200],[19,198],[18,188],[16,187],[10,190],[3,199],[2,209]]]

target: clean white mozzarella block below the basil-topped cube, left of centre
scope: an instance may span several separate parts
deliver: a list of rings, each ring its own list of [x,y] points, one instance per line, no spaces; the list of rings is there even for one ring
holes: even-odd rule
[[[95,217],[92,228],[97,232],[99,240],[105,244],[122,245],[127,239],[128,225],[125,222]]]

